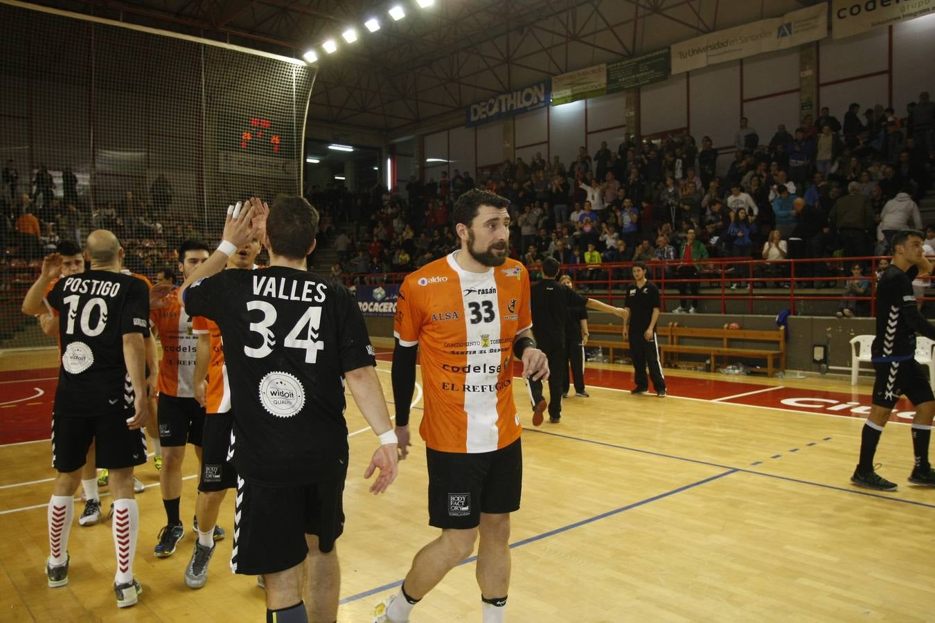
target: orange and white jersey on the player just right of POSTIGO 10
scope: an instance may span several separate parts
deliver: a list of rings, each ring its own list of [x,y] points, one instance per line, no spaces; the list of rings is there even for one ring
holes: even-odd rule
[[[175,291],[165,296],[163,307],[150,312],[150,321],[163,347],[156,389],[167,396],[192,398],[198,337],[192,332],[192,319],[185,313]]]

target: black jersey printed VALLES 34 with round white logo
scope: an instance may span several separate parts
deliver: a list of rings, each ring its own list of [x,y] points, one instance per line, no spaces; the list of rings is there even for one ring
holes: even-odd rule
[[[376,364],[350,290],[284,266],[227,269],[192,284],[185,311],[221,329],[237,474],[309,484],[346,461],[344,373]]]

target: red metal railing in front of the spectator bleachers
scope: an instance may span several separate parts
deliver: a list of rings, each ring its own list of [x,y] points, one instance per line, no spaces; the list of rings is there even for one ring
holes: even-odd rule
[[[880,257],[849,257],[849,258],[803,258],[798,260],[746,260],[739,258],[710,258],[696,262],[697,277],[678,276],[681,260],[646,262],[651,278],[659,288],[663,301],[663,310],[666,310],[666,301],[680,299],[698,299],[705,301],[720,301],[722,314],[727,312],[729,301],[747,302],[748,313],[754,313],[757,302],[777,301],[784,302],[778,305],[775,312],[789,309],[796,313],[796,304],[803,300],[814,301],[841,301],[845,282],[852,278],[851,266],[859,262],[864,266],[861,278],[870,282],[870,291],[863,296],[856,296],[855,300],[861,304],[869,304],[870,316],[876,313],[876,275],[874,269]],[[886,258],[888,259],[888,258]],[[625,286],[632,282],[630,268],[633,262],[614,262],[601,264],[563,264],[560,268],[562,274],[571,276],[575,289],[583,291],[593,298],[606,301],[608,304],[622,304],[626,298]],[[537,269],[531,272],[538,273]],[[818,273],[815,276],[815,273]],[[362,275],[346,275],[345,283],[366,285],[401,283],[408,272],[397,273],[370,273]],[[537,277],[538,278],[538,277]],[[684,296],[680,286],[698,283],[708,284],[706,290],[698,294],[686,291]],[[734,284],[742,284],[732,289]],[[828,287],[828,284],[832,284]],[[815,286],[822,286],[816,289]],[[711,292],[714,288],[720,291]],[[787,288],[788,293],[777,293],[763,290],[778,290]],[[616,291],[615,291],[616,290]],[[819,293],[820,292],[820,293]],[[826,293],[827,292],[827,293]],[[920,300],[929,300],[922,299]]]

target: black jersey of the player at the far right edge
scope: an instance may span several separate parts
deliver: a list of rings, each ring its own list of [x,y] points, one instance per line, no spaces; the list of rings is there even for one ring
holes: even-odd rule
[[[905,361],[915,356],[915,328],[909,316],[917,316],[913,279],[919,269],[903,272],[890,264],[877,281],[876,337],[870,347],[872,361]]]

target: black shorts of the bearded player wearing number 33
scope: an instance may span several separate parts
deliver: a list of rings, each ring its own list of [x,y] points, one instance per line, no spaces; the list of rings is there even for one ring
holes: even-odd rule
[[[468,530],[481,513],[512,513],[523,493],[523,447],[517,439],[493,452],[468,454],[425,448],[428,462],[428,523]]]

